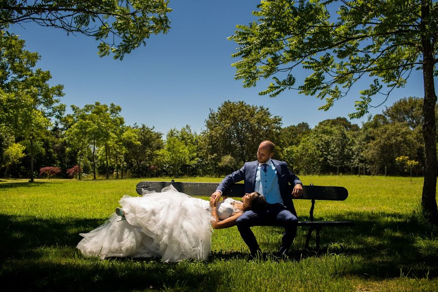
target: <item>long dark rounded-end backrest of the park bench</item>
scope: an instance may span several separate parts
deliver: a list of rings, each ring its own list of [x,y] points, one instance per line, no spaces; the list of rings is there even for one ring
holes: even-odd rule
[[[219,183],[181,183],[181,182],[140,182],[136,186],[137,193],[142,195],[142,189],[160,192],[162,188],[172,184],[179,192],[192,197],[209,197],[214,193]],[[292,185],[289,185],[292,192]],[[222,196],[241,198],[243,193],[243,183],[235,183]],[[320,186],[304,185],[303,196],[299,199],[304,200],[330,200],[344,201],[348,197],[348,191],[342,186]]]

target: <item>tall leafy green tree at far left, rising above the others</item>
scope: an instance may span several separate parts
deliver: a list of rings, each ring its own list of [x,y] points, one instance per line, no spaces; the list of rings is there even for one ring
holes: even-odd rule
[[[39,58],[37,53],[24,50],[24,40],[0,31],[0,124],[29,151],[31,182],[44,130],[51,125],[50,119],[65,109],[57,98],[64,95],[62,85],[51,87],[50,72],[34,69]]]

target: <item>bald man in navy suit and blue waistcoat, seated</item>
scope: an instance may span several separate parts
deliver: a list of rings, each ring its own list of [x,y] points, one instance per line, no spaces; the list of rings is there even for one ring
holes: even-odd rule
[[[299,198],[303,193],[303,184],[283,161],[271,159],[274,155],[274,143],[263,141],[258,146],[257,161],[247,162],[242,168],[227,175],[211,195],[219,199],[222,192],[233,183],[244,181],[245,193],[259,192],[268,202],[266,209],[245,211],[237,219],[240,236],[248,245],[251,255],[255,256],[260,248],[250,227],[256,225],[275,225],[285,228],[281,239],[280,256],[284,256],[295,238],[298,219],[293,207],[292,197]],[[294,187],[289,192],[289,183]]]

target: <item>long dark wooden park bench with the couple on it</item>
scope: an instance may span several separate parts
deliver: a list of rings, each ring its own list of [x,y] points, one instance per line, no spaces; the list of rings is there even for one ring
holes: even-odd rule
[[[192,197],[210,197],[214,193],[219,183],[180,183],[172,180],[171,182],[140,182],[136,186],[137,193],[143,195],[143,190],[160,192],[166,186],[172,184],[179,192],[187,194]],[[292,185],[289,185],[292,192]],[[241,198],[243,193],[243,183],[235,183],[225,192],[223,197]],[[313,219],[313,210],[315,208],[315,201],[344,201],[348,197],[348,191],[342,186],[318,186],[318,185],[304,185],[303,196],[299,199],[293,200],[311,200],[310,206],[310,221],[298,221],[298,226],[309,226],[309,231],[306,237],[305,248],[309,248],[309,241],[312,232],[316,231],[316,250],[319,250],[320,231],[323,227],[329,226],[352,226],[352,221],[315,221]]]

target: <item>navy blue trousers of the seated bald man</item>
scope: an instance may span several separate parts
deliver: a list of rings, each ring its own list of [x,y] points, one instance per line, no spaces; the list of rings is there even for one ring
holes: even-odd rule
[[[259,250],[257,239],[251,231],[253,226],[281,226],[285,231],[281,238],[280,252],[287,251],[296,235],[298,219],[282,204],[268,204],[267,208],[258,211],[245,211],[237,218],[237,229],[240,236],[248,245],[251,254]]]

